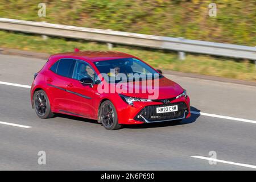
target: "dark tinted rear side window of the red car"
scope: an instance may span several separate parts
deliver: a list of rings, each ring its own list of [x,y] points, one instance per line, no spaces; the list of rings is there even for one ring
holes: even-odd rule
[[[61,59],[60,63],[57,66],[57,74],[65,77],[72,77],[73,67],[75,64],[75,60],[73,59]]]

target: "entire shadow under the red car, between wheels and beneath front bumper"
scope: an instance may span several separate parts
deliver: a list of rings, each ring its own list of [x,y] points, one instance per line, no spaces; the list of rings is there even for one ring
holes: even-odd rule
[[[200,112],[199,109],[197,109],[196,107],[193,107],[193,106],[191,106],[191,111]],[[75,117],[73,115],[56,113],[55,117],[73,119],[73,120],[76,120],[76,121],[89,122],[89,123],[94,123],[94,124],[97,124],[97,125],[101,125],[101,123],[98,123],[96,120],[86,119],[86,118],[81,118],[81,117]],[[167,126],[176,126],[176,125],[187,125],[187,124],[195,122],[196,119],[199,118],[199,117],[200,117],[199,114],[191,114],[190,118],[183,119],[181,122],[166,121],[166,122],[156,122],[156,123],[144,123],[144,124],[141,124],[141,125],[123,125],[122,128],[143,129],[143,128],[151,128],[151,127],[167,127]]]

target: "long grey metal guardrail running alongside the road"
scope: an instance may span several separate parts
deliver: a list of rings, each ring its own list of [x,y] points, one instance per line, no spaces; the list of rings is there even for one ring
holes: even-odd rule
[[[256,60],[256,47],[0,18],[0,29]]]

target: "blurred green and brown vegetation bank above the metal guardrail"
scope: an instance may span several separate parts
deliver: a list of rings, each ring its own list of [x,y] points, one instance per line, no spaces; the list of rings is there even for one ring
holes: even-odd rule
[[[255,0],[1,0],[0,17],[256,46]]]

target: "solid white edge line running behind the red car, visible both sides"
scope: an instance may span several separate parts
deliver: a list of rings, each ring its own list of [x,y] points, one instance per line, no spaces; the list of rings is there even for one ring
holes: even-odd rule
[[[19,87],[29,88],[29,89],[31,88],[30,85],[13,84],[13,83],[4,82],[4,81],[0,81],[0,84],[11,85],[11,86],[19,86]],[[225,115],[209,114],[209,113],[202,113],[202,112],[197,112],[197,111],[191,111],[191,114],[206,115],[206,116],[214,117],[214,118],[230,119],[230,120],[234,120],[234,121],[242,121],[242,122],[248,122],[248,123],[256,124],[256,121],[254,121],[254,120],[234,118],[234,117],[229,117],[229,116],[225,116]]]

